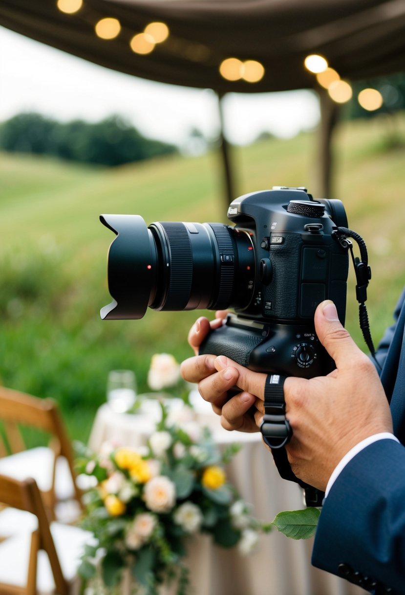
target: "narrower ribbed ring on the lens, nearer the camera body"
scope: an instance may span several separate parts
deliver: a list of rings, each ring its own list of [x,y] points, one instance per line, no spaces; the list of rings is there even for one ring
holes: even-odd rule
[[[230,237],[229,228],[220,224],[210,224],[211,229],[217,240],[220,253],[220,278],[216,302],[212,308],[227,308],[231,302],[233,279],[235,277],[235,253],[233,252],[233,243]],[[223,256],[229,255],[230,261],[223,259]]]

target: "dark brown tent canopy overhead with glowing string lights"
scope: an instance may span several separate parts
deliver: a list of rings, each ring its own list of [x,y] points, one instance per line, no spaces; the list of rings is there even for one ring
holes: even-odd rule
[[[121,23],[115,39],[94,32],[105,17]],[[151,21],[166,23],[169,37],[135,54],[129,42]],[[113,70],[220,95],[314,87],[303,67],[312,53],[353,80],[405,65],[404,0],[84,0],[74,14],[56,0],[0,0],[0,24]],[[261,62],[264,76],[225,80],[219,65],[229,57]]]

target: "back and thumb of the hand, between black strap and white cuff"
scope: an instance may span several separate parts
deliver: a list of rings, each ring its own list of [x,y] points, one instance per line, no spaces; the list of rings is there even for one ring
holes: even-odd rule
[[[392,432],[393,426],[376,369],[338,321],[333,302],[318,306],[315,330],[336,369],[311,380],[286,379],[286,417],[293,429],[286,449],[295,475],[325,490],[334,468],[353,446]]]

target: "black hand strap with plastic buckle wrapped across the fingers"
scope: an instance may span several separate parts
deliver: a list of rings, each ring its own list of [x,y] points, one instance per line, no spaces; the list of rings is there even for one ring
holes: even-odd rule
[[[284,400],[285,376],[268,374],[264,386],[264,416],[260,431],[264,442],[270,446],[277,471],[283,480],[294,481],[305,489],[307,506],[321,506],[324,493],[301,481],[290,467],[287,451],[284,448],[293,435],[288,419],[286,419],[286,402]]]

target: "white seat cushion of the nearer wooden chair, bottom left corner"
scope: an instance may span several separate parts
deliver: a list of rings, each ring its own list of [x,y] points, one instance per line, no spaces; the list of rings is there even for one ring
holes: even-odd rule
[[[54,522],[50,525],[56,552],[65,579],[75,584],[80,556],[86,543],[94,544],[93,534],[78,527],[70,527]],[[27,584],[31,534],[23,532],[0,543],[0,583],[24,587]],[[39,595],[55,593],[52,569],[48,555],[43,550],[38,553],[37,591]]]

